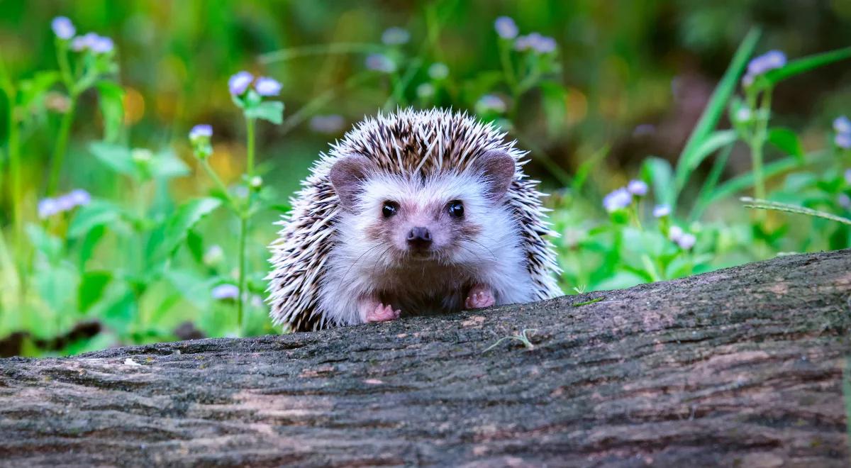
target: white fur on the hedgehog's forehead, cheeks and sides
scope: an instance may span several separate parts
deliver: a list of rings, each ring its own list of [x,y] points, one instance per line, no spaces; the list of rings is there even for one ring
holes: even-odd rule
[[[493,288],[497,305],[532,300],[534,288],[517,220],[505,204],[494,203],[483,193],[483,180],[472,174],[443,175],[424,183],[400,175],[371,177],[354,212],[340,213],[336,243],[319,290],[319,306],[328,321],[363,322],[358,299],[374,294],[402,309],[403,315],[458,311],[466,289],[477,283]],[[366,231],[379,222],[385,200],[424,208],[460,200],[464,222],[479,226],[481,232],[474,237],[476,242],[463,241],[436,259],[406,257],[402,245],[368,239]]]

